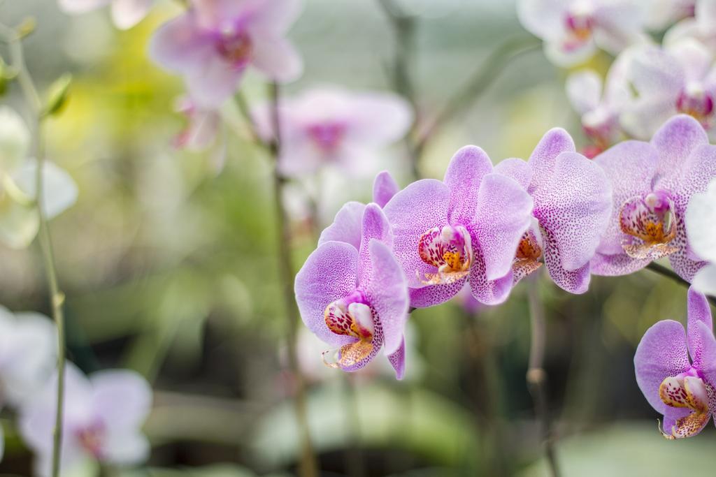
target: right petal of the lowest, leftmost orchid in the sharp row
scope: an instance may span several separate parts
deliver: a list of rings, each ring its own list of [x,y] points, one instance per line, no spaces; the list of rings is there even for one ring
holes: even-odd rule
[[[377,312],[383,330],[385,353],[390,355],[400,347],[407,322],[410,301],[407,281],[390,247],[373,239],[368,248],[372,273],[362,286],[370,305]]]

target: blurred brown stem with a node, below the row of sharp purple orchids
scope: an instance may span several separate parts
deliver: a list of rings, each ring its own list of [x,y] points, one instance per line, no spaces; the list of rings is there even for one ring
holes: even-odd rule
[[[527,370],[527,386],[532,395],[535,415],[541,423],[547,463],[553,477],[559,477],[559,467],[554,449],[549,410],[547,405],[547,373],[543,368],[546,341],[546,322],[544,308],[538,295],[537,280],[528,280],[528,302],[530,309],[531,343],[529,367]]]

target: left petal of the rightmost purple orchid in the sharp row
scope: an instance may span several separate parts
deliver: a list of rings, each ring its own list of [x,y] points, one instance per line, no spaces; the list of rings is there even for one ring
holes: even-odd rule
[[[624,233],[619,228],[619,210],[630,198],[651,192],[659,154],[648,142],[624,141],[599,154],[594,162],[611,182],[614,197],[611,217],[596,250],[605,255],[623,254]]]

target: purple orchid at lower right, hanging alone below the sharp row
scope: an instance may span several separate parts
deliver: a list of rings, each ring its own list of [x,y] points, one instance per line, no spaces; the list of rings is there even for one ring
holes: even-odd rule
[[[663,320],[644,333],[634,355],[637,384],[664,415],[667,439],[695,436],[716,409],[716,339],[706,297],[688,292],[687,328]],[[690,359],[691,358],[691,359]]]

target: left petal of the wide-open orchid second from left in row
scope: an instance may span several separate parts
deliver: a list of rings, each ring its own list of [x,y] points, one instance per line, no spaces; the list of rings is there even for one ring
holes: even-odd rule
[[[418,254],[420,237],[432,227],[448,223],[450,190],[438,180],[413,182],[398,192],[384,207],[393,230],[393,252],[412,288],[425,285],[420,277],[437,270],[423,262]]]

